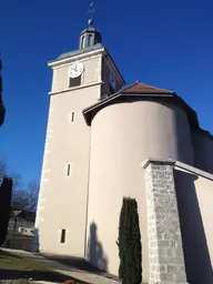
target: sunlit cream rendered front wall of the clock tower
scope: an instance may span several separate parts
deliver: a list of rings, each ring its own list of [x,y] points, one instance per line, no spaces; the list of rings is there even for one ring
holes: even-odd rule
[[[36,222],[37,247],[43,253],[84,256],[90,128],[82,110],[100,98],[101,61],[101,55],[83,61],[82,88],[69,89],[71,62],[53,70]],[[63,229],[65,243],[60,243]]]

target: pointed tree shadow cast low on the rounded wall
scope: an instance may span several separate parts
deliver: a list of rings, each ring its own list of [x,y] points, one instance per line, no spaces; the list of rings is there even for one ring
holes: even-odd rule
[[[98,240],[98,229],[95,223],[90,224],[90,236],[88,241],[87,260],[102,271],[108,271],[108,256],[103,252],[103,246]]]

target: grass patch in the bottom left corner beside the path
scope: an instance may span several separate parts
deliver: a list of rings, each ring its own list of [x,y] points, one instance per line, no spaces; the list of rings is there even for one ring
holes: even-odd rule
[[[0,250],[0,280],[32,278],[63,283],[69,276],[41,266],[33,261]],[[77,284],[83,282],[77,281]]]

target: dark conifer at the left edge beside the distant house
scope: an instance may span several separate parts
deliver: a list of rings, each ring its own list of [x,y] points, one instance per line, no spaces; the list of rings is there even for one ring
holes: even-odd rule
[[[12,180],[9,178],[3,178],[3,181],[0,186],[0,245],[3,244],[8,233],[11,197],[12,197]]]

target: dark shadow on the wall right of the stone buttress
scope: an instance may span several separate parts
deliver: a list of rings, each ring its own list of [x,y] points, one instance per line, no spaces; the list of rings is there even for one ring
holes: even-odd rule
[[[196,175],[174,171],[187,282],[212,284],[213,272],[194,181]]]

